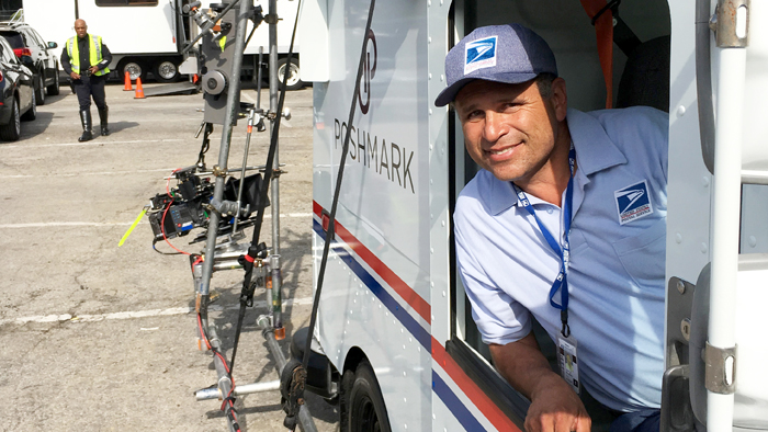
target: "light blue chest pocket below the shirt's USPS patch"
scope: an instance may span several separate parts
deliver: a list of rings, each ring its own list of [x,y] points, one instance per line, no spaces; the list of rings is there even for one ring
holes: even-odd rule
[[[619,261],[641,287],[664,284],[667,226],[658,221],[639,235],[613,243]]]

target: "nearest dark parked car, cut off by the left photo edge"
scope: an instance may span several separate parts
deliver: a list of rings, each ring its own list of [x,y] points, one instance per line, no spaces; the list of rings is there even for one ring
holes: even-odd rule
[[[15,141],[21,135],[21,121],[37,116],[36,75],[30,69],[32,66],[30,56],[18,58],[11,45],[0,37],[0,139]]]

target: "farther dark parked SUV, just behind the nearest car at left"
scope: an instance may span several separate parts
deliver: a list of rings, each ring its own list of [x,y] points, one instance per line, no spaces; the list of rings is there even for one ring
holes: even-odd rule
[[[0,22],[0,36],[13,48],[16,57],[30,56],[35,73],[35,102],[45,104],[45,94],[59,92],[58,55],[55,42],[45,42],[31,25],[23,22]]]

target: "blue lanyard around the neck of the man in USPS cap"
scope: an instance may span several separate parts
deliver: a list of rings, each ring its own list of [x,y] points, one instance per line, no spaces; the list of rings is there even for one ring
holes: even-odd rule
[[[537,216],[537,212],[531,205],[531,202],[528,200],[528,195],[526,192],[521,191],[518,189],[518,186],[512,183],[512,187],[515,187],[515,193],[517,193],[518,198],[520,200],[520,203],[526,207],[528,213],[533,216],[533,218],[537,221],[537,225],[539,225],[539,229],[541,230],[541,234],[544,236],[544,239],[546,242],[550,245],[550,248],[552,248],[553,251],[560,257],[561,261],[561,268],[560,268],[560,273],[557,273],[557,277],[555,277],[555,281],[552,283],[552,287],[550,288],[550,305],[554,307],[555,309],[560,310],[560,318],[563,323],[563,329],[561,332],[563,333],[563,337],[567,338],[571,336],[571,327],[568,326],[568,261],[571,259],[571,248],[568,246],[568,235],[571,232],[571,217],[572,217],[572,205],[573,205],[573,197],[574,197],[574,164],[576,162],[576,150],[574,149],[573,143],[571,144],[571,151],[568,152],[568,164],[571,167],[571,179],[568,179],[568,186],[565,189],[565,203],[563,204],[563,230],[565,231],[565,235],[563,237],[562,243],[556,241],[554,236],[550,232],[549,229],[544,226],[544,224],[541,223],[541,219],[539,219],[539,216]],[[561,247],[562,245],[562,247]],[[555,302],[554,297],[557,294],[557,291],[560,291],[560,304]]]

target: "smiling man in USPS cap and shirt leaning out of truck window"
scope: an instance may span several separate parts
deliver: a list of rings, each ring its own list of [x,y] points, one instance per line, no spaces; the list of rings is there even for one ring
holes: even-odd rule
[[[472,32],[445,73],[436,105],[453,103],[483,168],[456,202],[459,270],[494,364],[531,400],[526,429],[589,431],[589,396],[611,431],[657,432],[666,114],[567,109],[554,54],[519,24]]]

